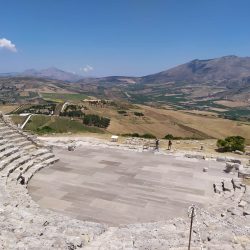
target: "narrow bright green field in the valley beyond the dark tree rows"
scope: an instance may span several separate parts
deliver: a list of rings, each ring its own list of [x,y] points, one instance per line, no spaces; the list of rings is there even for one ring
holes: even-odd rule
[[[41,93],[46,101],[64,102],[64,101],[81,101],[86,99],[84,94],[67,94],[67,93]]]

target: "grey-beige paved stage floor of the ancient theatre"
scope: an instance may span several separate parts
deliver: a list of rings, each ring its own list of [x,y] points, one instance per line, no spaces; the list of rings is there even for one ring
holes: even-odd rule
[[[37,173],[29,192],[41,207],[109,225],[187,216],[211,202],[224,164],[119,149],[55,149],[60,161]],[[208,167],[207,173],[202,171]]]

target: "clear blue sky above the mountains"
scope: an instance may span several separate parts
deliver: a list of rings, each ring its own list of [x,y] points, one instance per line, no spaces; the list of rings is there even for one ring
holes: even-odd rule
[[[0,0],[0,72],[140,76],[250,56],[249,10],[249,0]]]

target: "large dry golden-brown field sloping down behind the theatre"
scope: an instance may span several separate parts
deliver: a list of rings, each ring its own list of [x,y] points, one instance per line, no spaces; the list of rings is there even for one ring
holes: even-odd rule
[[[151,133],[158,138],[167,134],[183,138],[224,138],[241,135],[250,143],[250,123],[222,119],[216,113],[190,112],[189,110],[159,109],[145,105],[134,105],[119,113],[116,107],[88,106],[86,114],[97,114],[111,119],[107,131],[111,134]],[[144,116],[136,116],[135,112]]]

